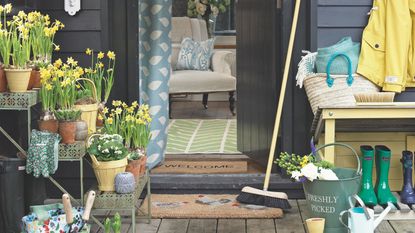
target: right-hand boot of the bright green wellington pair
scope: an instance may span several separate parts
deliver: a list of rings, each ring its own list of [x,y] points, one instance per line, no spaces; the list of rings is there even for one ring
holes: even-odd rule
[[[389,187],[389,167],[391,151],[386,146],[375,146],[376,151],[376,194],[379,205],[387,205],[388,202],[397,204],[397,199],[392,195]]]

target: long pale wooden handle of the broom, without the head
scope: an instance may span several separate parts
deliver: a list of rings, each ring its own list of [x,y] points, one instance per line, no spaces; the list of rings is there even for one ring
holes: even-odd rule
[[[297,31],[297,22],[298,22],[298,15],[299,15],[299,12],[300,12],[300,5],[301,5],[301,0],[296,0],[295,9],[294,9],[294,16],[293,16],[293,22],[292,22],[292,25],[291,25],[290,40],[289,40],[289,43],[288,43],[287,57],[285,58],[285,67],[284,67],[284,74],[283,74],[283,77],[282,77],[280,98],[278,100],[277,114],[275,116],[274,131],[272,133],[272,141],[271,141],[271,148],[270,148],[269,157],[268,157],[267,172],[265,174],[265,181],[264,181],[264,190],[265,191],[267,191],[268,187],[269,187],[269,179],[271,177],[271,170],[272,170],[272,165],[273,165],[273,162],[274,162],[275,147],[277,146],[278,132],[279,132],[279,129],[280,129],[282,109],[283,109],[283,106],[284,106],[285,90],[287,88],[288,75],[289,75],[289,72],[290,72],[291,57],[292,57],[292,53],[293,53],[295,33]]]

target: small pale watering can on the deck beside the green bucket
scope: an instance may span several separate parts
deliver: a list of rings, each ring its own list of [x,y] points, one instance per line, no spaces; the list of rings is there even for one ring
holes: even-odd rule
[[[355,199],[360,207],[354,207],[352,199]],[[362,199],[357,195],[349,197],[350,209],[342,211],[339,216],[340,222],[349,229],[351,233],[373,233],[376,227],[391,210],[391,204],[375,218],[375,213],[372,209],[365,206]],[[343,222],[343,215],[348,213],[348,224]]]

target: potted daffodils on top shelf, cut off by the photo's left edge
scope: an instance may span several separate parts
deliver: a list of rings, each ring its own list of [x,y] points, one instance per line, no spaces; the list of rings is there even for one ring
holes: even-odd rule
[[[12,11],[12,5],[6,4],[0,5],[0,55],[2,57],[2,63],[0,64],[0,92],[7,91],[7,79],[4,68],[10,65],[10,56],[12,50],[11,33],[7,28],[7,15]]]

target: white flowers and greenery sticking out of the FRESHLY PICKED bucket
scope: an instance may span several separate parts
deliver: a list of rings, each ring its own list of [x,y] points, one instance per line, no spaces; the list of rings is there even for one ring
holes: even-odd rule
[[[295,181],[338,180],[332,170],[333,164],[324,160],[317,161],[313,155],[300,156],[283,152],[275,163],[285,169]]]

